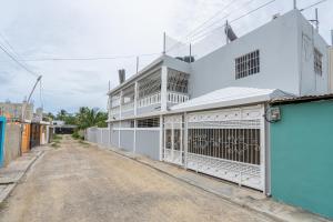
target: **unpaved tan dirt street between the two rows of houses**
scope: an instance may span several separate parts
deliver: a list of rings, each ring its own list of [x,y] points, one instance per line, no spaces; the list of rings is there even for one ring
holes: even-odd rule
[[[62,139],[7,203],[3,222],[270,221],[133,160]]]

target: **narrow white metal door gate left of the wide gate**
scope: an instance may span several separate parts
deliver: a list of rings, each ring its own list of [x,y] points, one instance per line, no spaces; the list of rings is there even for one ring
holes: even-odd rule
[[[164,144],[163,160],[167,162],[183,165],[183,117],[164,117]]]

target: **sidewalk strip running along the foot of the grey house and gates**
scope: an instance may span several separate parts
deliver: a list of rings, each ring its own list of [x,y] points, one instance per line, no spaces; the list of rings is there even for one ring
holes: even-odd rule
[[[87,141],[88,142],[88,141]],[[90,142],[88,142],[90,143]],[[268,215],[276,221],[300,221],[300,222],[329,222],[324,218],[310,213],[299,208],[279,203],[263,193],[248,188],[238,186],[223,180],[214,179],[190,170],[184,170],[165,162],[153,161],[143,155],[134,154],[123,150],[105,148],[95,143],[90,143],[100,149],[115,152],[120,155],[135,160],[142,164],[153,168],[178,180],[190,183],[196,188],[214,193],[232,203],[235,203],[248,210],[256,211]]]

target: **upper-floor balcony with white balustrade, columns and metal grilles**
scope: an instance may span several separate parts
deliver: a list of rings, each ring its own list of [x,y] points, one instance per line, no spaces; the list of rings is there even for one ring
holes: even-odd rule
[[[165,67],[158,68],[110,95],[110,115],[123,119],[165,111],[169,107],[190,99],[188,84],[188,73]],[[112,108],[112,104],[117,108]]]

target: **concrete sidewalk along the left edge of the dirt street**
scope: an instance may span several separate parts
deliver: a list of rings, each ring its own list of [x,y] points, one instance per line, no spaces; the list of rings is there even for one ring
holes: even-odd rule
[[[0,204],[9,196],[32,163],[43,154],[44,150],[43,147],[33,148],[31,152],[23,153],[22,157],[0,169]]]

